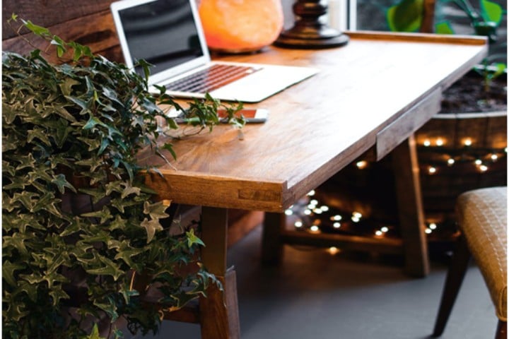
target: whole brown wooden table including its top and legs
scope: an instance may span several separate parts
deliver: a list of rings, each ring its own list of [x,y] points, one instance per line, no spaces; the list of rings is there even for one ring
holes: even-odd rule
[[[202,207],[206,267],[223,280],[225,295],[211,291],[199,313],[202,338],[239,338],[235,270],[226,266],[228,208],[264,210],[263,256],[278,261],[282,212],[369,148],[378,159],[394,150],[401,242],[375,242],[398,249],[411,275],[428,273],[428,254],[413,132],[440,109],[440,97],[487,52],[480,37],[349,32],[346,47],[322,50],[269,47],[259,54],[223,59],[313,66],[320,73],[257,105],[269,121],[243,129],[230,126],[174,143],[172,167],[140,153],[141,164],[161,165],[163,178],[146,182],[158,198]],[[170,156],[168,156],[170,158]],[[317,242],[324,239],[317,239]],[[337,239],[346,244],[346,239]],[[223,299],[223,297],[225,299]]]

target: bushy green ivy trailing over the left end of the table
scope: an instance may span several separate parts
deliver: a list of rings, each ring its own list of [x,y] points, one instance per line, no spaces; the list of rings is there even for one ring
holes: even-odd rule
[[[163,222],[167,204],[137,175],[157,172],[140,167],[136,153],[151,147],[163,156],[158,121],[178,129],[165,113],[182,107],[164,88],[148,93],[144,61],[142,77],[30,21],[23,27],[71,60],[49,64],[38,49],[2,55],[4,338],[100,338],[101,319],[110,323],[103,337],[122,338],[120,320],[133,333],[155,333],[160,307],[143,303],[139,274],[170,310],[218,284],[199,261],[197,227]],[[218,124],[220,106],[207,97],[185,114],[200,131]],[[225,107],[238,126],[240,106]],[[175,156],[169,143],[162,148]],[[69,196],[86,198],[88,210],[72,213]]]

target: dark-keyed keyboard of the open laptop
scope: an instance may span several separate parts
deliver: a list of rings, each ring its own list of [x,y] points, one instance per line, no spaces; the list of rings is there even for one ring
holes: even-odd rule
[[[238,65],[214,64],[166,85],[168,90],[206,93],[250,75],[261,68]]]

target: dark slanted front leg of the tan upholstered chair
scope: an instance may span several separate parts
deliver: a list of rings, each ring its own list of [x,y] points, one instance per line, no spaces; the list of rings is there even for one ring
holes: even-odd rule
[[[464,237],[460,236],[457,242],[457,248],[452,256],[450,268],[447,271],[447,278],[440,301],[440,308],[438,309],[438,316],[435,321],[433,337],[439,337],[445,329],[457,294],[460,292],[460,287],[463,283],[464,275],[467,272],[470,258],[471,254],[467,247],[467,242]]]

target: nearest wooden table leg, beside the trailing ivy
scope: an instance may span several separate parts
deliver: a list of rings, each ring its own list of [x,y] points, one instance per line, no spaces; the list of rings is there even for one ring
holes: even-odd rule
[[[238,339],[237,283],[233,267],[226,268],[228,210],[203,207],[201,210],[201,239],[205,247],[201,260],[209,272],[223,283],[224,292],[216,285],[207,290],[207,297],[200,297],[199,318],[202,339]]]

